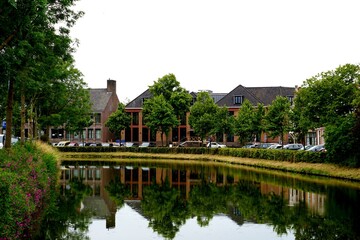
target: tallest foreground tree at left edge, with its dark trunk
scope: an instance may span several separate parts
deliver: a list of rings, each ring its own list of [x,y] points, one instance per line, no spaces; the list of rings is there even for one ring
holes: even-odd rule
[[[26,86],[31,81],[27,80],[45,79],[42,77],[44,72],[39,71],[38,65],[45,66],[44,57],[49,52],[63,60],[71,58],[69,28],[82,15],[82,12],[76,13],[71,9],[74,3],[75,1],[39,0],[0,3],[0,75],[8,90],[6,148],[11,145],[14,96],[29,92]],[[35,75],[36,71],[40,75]],[[24,103],[23,101],[22,105]]]

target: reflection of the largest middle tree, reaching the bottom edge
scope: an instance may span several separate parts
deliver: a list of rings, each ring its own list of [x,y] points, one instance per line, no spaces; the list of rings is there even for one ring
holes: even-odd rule
[[[167,239],[173,239],[189,216],[185,200],[171,188],[168,179],[161,185],[144,188],[141,209],[150,220],[149,226]]]

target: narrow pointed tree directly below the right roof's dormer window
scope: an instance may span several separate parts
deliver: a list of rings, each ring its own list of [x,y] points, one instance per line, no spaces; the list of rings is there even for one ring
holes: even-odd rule
[[[245,99],[235,123],[235,135],[239,136],[240,143],[252,142],[255,132],[255,111],[249,100]]]

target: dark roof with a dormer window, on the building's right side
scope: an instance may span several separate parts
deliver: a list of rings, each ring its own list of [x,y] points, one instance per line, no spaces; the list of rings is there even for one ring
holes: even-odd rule
[[[291,87],[244,87],[237,86],[226,96],[220,99],[217,104],[219,106],[239,108],[241,104],[234,104],[235,96],[242,96],[243,100],[247,99],[250,103],[256,106],[258,103],[268,106],[277,96],[294,96],[295,88]]]

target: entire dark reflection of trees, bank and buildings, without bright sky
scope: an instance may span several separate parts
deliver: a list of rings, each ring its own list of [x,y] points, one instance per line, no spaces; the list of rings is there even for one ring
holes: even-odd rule
[[[360,239],[358,184],[224,165],[67,164],[61,196],[82,184],[81,194],[70,198],[76,199],[72,211],[83,214],[81,228],[68,226],[68,232],[81,233],[78,239],[86,238],[89,213],[92,220],[105,219],[106,229],[116,228],[125,203],[166,239],[175,239],[191,219],[206,227],[216,216],[239,227],[271,225],[276,235],[291,239]]]

